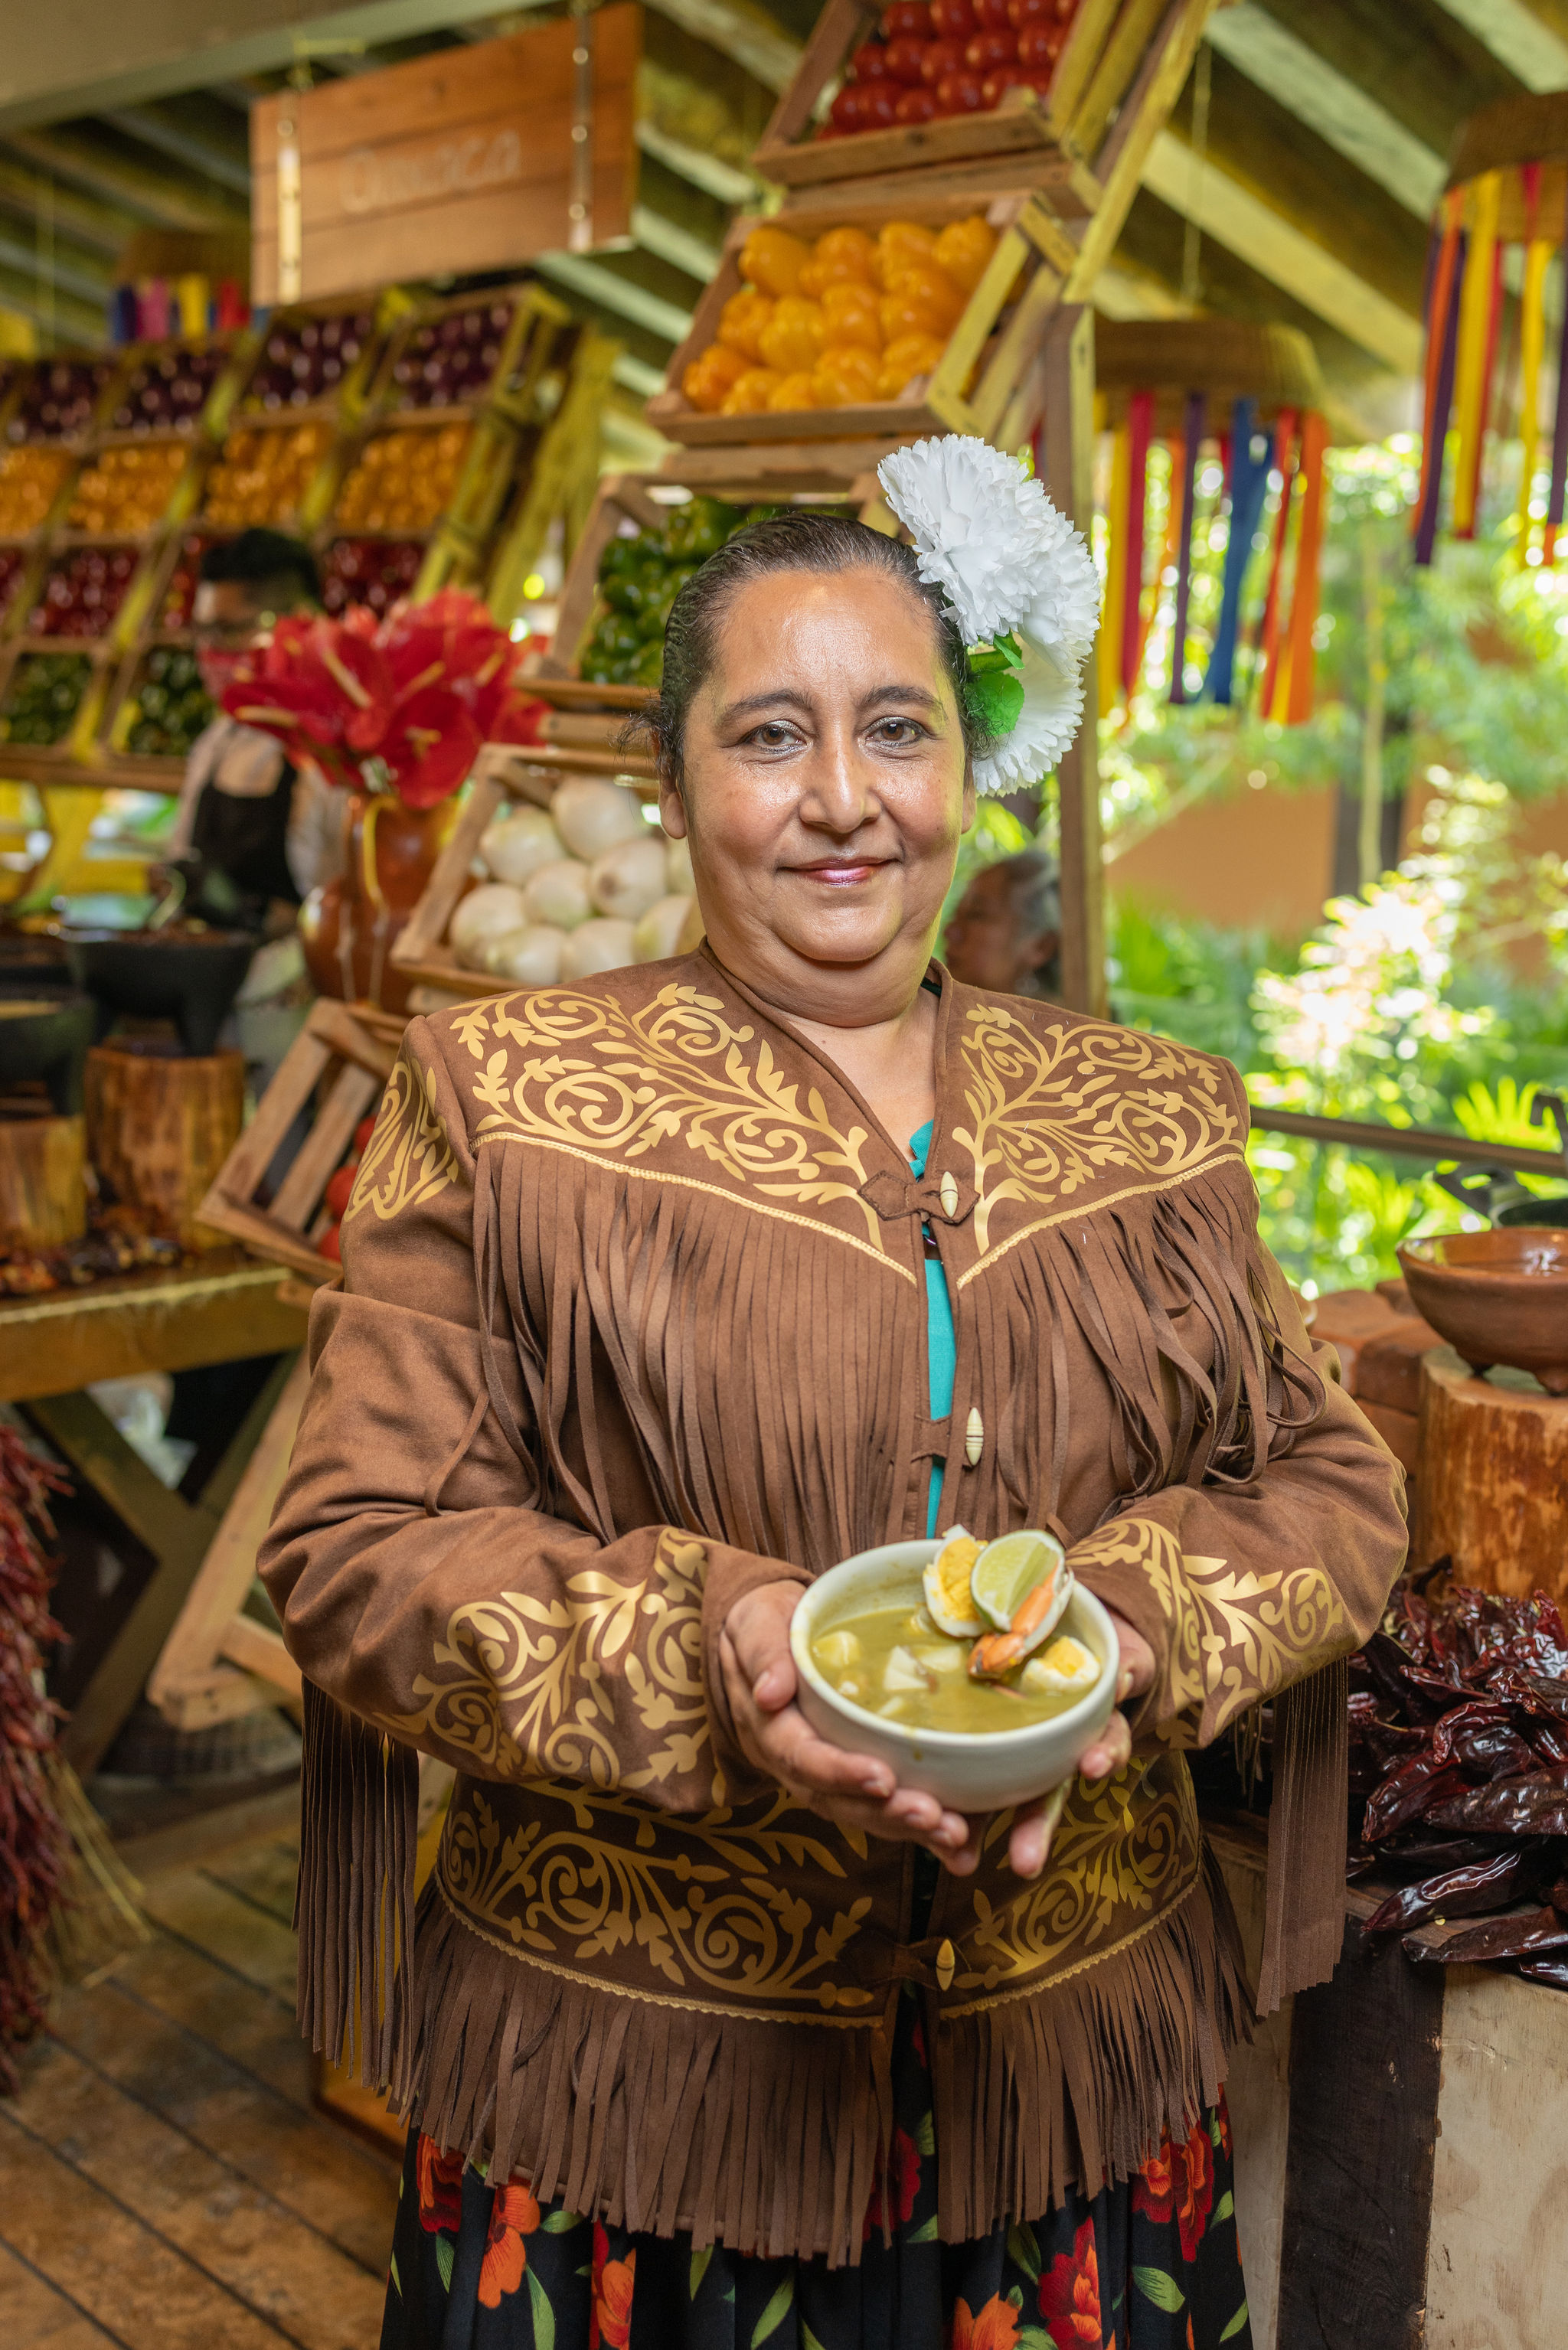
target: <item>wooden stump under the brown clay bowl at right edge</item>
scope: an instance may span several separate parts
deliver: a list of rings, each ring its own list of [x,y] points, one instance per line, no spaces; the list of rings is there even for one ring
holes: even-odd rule
[[[1568,1598],[1568,1396],[1528,1370],[1476,1379],[1453,1347],[1422,1356],[1410,1560],[1453,1556],[1481,1591]]]

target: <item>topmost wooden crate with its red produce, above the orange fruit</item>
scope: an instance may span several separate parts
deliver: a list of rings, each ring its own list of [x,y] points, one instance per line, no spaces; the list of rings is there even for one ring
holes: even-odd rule
[[[1084,219],[1107,132],[1180,14],[1171,0],[830,0],[752,167],[790,188],[905,172],[1041,188]]]

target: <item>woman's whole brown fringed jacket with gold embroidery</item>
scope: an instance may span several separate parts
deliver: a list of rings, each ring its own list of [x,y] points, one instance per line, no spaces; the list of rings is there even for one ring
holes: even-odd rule
[[[1182,1748],[1260,1699],[1262,2000],[1340,1943],[1316,1668],[1380,1617],[1401,1471],[1258,1241],[1241,1081],[936,975],[919,1182],[708,949],[416,1020],[263,1549],[306,1671],[315,2044],[357,2035],[541,2202],[698,2247],[858,2258],[905,1981],[945,2240],[1185,2134],[1248,1995]],[[933,1462],[945,1525],[1056,1528],[1159,1671],[1044,1878],[997,1819],[910,1941],[912,1847],[757,1779],[717,1643],[743,1591],[924,1535]],[[458,1772],[416,1925],[414,1748]]]

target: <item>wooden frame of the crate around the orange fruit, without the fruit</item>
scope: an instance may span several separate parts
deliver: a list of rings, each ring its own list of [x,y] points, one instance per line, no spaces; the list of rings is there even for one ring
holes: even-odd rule
[[[649,400],[649,423],[668,439],[731,451],[759,442],[809,449],[820,439],[877,444],[875,456],[882,456],[924,432],[976,432],[980,439],[1001,439],[1001,446],[1009,437],[1023,439],[1034,416],[1013,423],[1016,395],[1037,357],[1044,322],[1079,261],[1077,244],[1039,195],[1013,190],[976,200],[961,190],[889,202],[886,195],[870,195],[863,186],[825,188],[792,200],[771,216],[771,223],[799,237],[818,237],[827,228],[865,228],[877,235],[889,221],[947,228],[950,221],[964,221],[976,212],[985,212],[992,228],[1001,230],[1001,242],[947,336],[936,369],[931,376],[917,376],[903,400],[759,416],[703,416],[679,383],[691,360],[717,338],[724,303],[741,291],[741,247],[759,223],[738,219],[724,240],[719,268],[698,301],[691,334],[670,360],[665,390]]]

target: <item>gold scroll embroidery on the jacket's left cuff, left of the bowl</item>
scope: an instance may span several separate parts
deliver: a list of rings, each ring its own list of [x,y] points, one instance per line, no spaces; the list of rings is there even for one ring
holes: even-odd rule
[[[597,1788],[696,1777],[701,1800],[719,1802],[722,1781],[705,1753],[705,1572],[703,1544],[665,1528],[644,1582],[581,1567],[557,1600],[527,1591],[468,1600],[437,1640],[433,1671],[414,1680],[421,1711],[393,1716],[390,1727],[409,1741],[440,1739],[487,1774],[581,1774]],[[614,1737],[618,1685],[644,1734],[663,1737],[630,1772]]]

